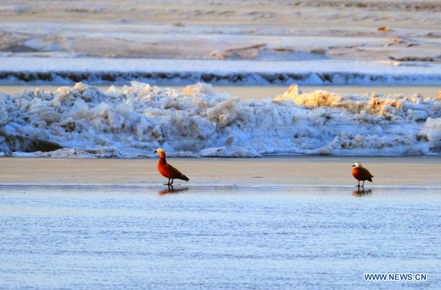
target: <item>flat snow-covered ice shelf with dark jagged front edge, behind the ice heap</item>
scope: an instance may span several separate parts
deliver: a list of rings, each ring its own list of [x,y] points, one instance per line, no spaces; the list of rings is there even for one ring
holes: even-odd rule
[[[441,82],[441,63],[0,57],[0,84],[409,84]]]

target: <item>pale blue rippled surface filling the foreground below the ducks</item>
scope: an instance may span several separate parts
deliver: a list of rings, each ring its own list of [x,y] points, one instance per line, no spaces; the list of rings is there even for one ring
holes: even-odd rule
[[[439,187],[175,190],[0,185],[0,289],[441,288]]]

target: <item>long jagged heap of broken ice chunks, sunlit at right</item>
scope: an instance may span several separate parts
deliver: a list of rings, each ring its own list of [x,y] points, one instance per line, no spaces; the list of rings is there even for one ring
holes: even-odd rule
[[[209,84],[77,83],[0,94],[0,152],[47,157],[439,155],[441,100],[419,94],[302,93],[241,101]]]

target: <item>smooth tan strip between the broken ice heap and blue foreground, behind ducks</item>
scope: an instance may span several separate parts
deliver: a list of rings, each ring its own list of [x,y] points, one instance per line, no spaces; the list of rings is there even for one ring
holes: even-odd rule
[[[441,186],[440,157],[168,158],[190,178],[185,185],[355,185],[362,164],[377,185]],[[161,184],[154,158],[0,158],[1,184]]]

